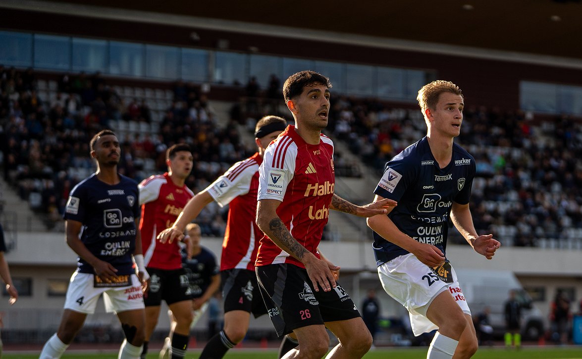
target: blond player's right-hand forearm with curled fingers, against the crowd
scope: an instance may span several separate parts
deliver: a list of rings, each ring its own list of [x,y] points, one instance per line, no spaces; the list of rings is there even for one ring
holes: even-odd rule
[[[469,242],[475,252],[484,255],[488,260],[491,260],[495,255],[495,251],[501,247],[501,243],[493,238],[493,234],[477,234],[477,230],[475,230],[475,226],[473,225],[473,216],[471,216],[469,204],[453,202],[450,219],[452,219],[459,233]]]

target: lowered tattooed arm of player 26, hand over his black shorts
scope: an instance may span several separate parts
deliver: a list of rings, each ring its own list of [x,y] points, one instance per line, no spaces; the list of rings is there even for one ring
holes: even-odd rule
[[[305,265],[307,275],[313,283],[315,292],[319,292],[319,287],[324,292],[329,292],[332,287],[335,288],[335,279],[329,269],[328,262],[322,261],[315,257],[307,248],[301,246],[293,238],[285,223],[277,215],[276,209],[281,204],[278,200],[260,200],[257,204],[257,225],[263,233],[275,243],[279,248],[292,255]]]

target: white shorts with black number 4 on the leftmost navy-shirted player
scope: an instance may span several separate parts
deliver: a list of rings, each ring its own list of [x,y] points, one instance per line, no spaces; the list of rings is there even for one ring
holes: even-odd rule
[[[135,274],[129,278],[132,281],[129,286],[95,287],[93,274],[74,272],[69,281],[65,309],[93,314],[101,294],[108,313],[143,309],[145,306],[140,280]]]

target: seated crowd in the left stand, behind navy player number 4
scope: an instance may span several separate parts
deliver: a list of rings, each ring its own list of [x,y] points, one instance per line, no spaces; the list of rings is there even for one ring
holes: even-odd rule
[[[0,66],[3,178],[52,228],[61,221],[70,189],[94,170],[88,156],[90,138],[101,129],[115,130],[119,121],[152,119],[147,99],[124,98],[99,73],[62,74],[58,88],[47,98],[38,94],[36,77],[32,69]],[[189,143],[195,166],[187,185],[197,192],[251,150],[241,144],[236,127],[217,126],[197,87],[178,82],[173,93],[159,127],[152,127],[157,131],[118,131],[119,171],[137,182],[165,172],[166,149]],[[148,161],[154,165],[144,168]],[[203,234],[221,236],[225,213],[207,206],[198,217]]]

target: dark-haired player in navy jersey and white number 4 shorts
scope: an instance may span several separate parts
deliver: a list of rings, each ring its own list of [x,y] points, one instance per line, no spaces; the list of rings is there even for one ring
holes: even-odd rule
[[[41,359],[65,353],[87,314],[95,312],[101,294],[105,309],[115,312],[125,333],[119,358],[139,358],[145,338],[142,288],[147,272],[137,230],[137,183],[117,172],[120,148],[115,133],[95,134],[90,146],[97,171],[73,188],[63,215],[67,244],[79,255],[77,270],[70,279],[59,329],[44,344]]]

